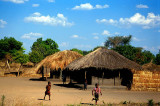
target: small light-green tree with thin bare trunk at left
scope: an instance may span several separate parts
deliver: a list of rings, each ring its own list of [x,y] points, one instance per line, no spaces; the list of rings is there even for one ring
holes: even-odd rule
[[[23,63],[27,63],[29,61],[29,56],[27,54],[24,54],[24,51],[17,51],[13,54],[13,60],[17,63],[20,63],[20,68],[18,70],[18,76],[19,76],[19,72],[20,69],[22,67]]]

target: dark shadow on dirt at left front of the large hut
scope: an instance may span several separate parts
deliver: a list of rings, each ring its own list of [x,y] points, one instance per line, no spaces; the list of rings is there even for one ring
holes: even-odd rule
[[[76,88],[79,90],[83,90],[83,87],[76,85],[77,83],[72,84],[54,84],[55,86],[66,87],[66,88]]]

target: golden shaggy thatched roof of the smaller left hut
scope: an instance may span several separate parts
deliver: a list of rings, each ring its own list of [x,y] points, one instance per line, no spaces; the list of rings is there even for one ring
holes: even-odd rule
[[[43,59],[36,65],[36,71],[42,66],[50,68],[51,70],[58,70],[59,68],[63,70],[69,63],[80,57],[82,57],[82,55],[75,51],[60,51]]]

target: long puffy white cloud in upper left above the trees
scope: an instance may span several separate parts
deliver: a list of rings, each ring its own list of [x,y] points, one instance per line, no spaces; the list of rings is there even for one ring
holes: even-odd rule
[[[56,17],[54,16],[43,16],[39,12],[35,12],[32,15],[25,17],[24,20],[26,22],[35,22],[41,23],[44,25],[51,25],[51,26],[72,26],[73,23],[68,22],[68,19],[64,17],[63,14],[58,13]]]

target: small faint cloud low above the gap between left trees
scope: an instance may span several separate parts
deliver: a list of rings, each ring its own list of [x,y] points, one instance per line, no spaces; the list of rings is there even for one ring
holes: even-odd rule
[[[41,33],[33,33],[33,32],[31,32],[31,33],[22,35],[21,38],[22,39],[35,40],[35,39],[37,39],[39,37],[42,37],[42,36],[43,36],[43,34],[41,34]]]

